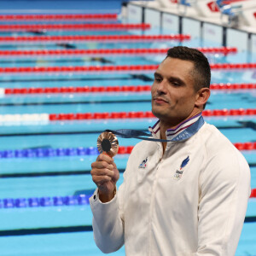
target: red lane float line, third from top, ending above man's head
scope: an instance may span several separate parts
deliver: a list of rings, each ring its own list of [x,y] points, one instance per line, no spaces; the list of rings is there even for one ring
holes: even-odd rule
[[[177,34],[177,35],[113,35],[113,36],[32,36],[32,37],[0,37],[0,44],[3,43],[73,43],[73,42],[154,42],[154,41],[166,41],[166,40],[189,40],[189,35]]]

